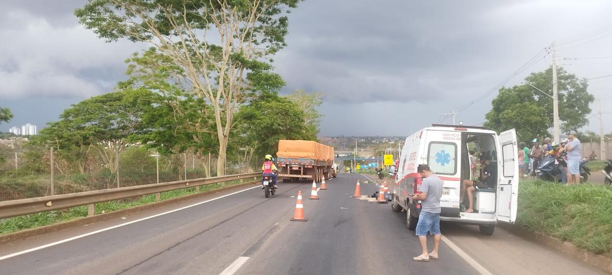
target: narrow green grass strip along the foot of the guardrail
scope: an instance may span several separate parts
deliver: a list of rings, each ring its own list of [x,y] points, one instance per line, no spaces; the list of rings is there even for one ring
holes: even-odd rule
[[[195,187],[177,189],[160,194],[160,200],[174,199],[176,197],[187,196],[195,193],[203,193],[214,189],[238,185],[239,180],[233,180],[225,183],[215,183],[211,185],[200,186],[200,191],[196,191]],[[155,202],[155,194],[142,196],[135,200],[112,200],[110,202],[100,202],[95,204],[95,213],[108,213],[121,210],[124,208],[146,205]],[[12,232],[17,232],[24,229],[32,229],[35,227],[48,226],[62,221],[70,221],[73,219],[83,218],[88,215],[88,207],[80,206],[73,207],[67,210],[54,210],[41,212],[31,215],[18,216],[0,221],[0,235]]]

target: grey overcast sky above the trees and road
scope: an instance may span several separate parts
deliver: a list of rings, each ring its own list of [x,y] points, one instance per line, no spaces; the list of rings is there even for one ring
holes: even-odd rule
[[[70,104],[110,92],[125,79],[125,58],[148,46],[98,39],[73,15],[84,2],[0,2],[0,106],[15,115],[0,131],[25,123],[40,130]],[[610,10],[608,0],[306,0],[289,16],[288,46],[274,65],[287,82],[284,94],[326,94],[321,135],[406,136],[485,94],[553,41],[608,26],[559,46],[558,56],[580,78],[612,74]],[[538,60],[506,86],[551,64],[551,56]],[[612,94],[612,77],[594,79],[589,92]],[[496,94],[457,120],[484,122]],[[590,122],[583,130],[599,133],[599,120]]]

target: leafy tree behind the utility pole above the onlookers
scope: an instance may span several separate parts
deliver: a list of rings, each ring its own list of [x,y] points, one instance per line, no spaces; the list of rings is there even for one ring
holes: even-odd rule
[[[532,73],[525,82],[552,95],[552,69]],[[558,70],[559,120],[561,131],[576,130],[588,125],[586,116],[591,112],[589,103],[594,97],[587,92],[586,79]],[[548,136],[553,127],[553,99],[531,86],[502,87],[491,102],[486,115],[486,127],[496,131],[516,128],[521,141]]]

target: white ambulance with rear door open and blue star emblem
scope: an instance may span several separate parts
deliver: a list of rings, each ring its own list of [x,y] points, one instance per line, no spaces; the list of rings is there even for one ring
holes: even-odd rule
[[[396,170],[392,210],[406,211],[411,230],[416,227],[421,206],[409,196],[420,193],[419,164],[427,164],[444,181],[441,221],[479,225],[480,233],[491,235],[498,221],[513,224],[517,218],[519,174],[514,129],[498,135],[484,127],[432,125],[406,138]],[[468,196],[460,196],[463,180],[472,180],[476,186],[471,213],[466,212]]]

